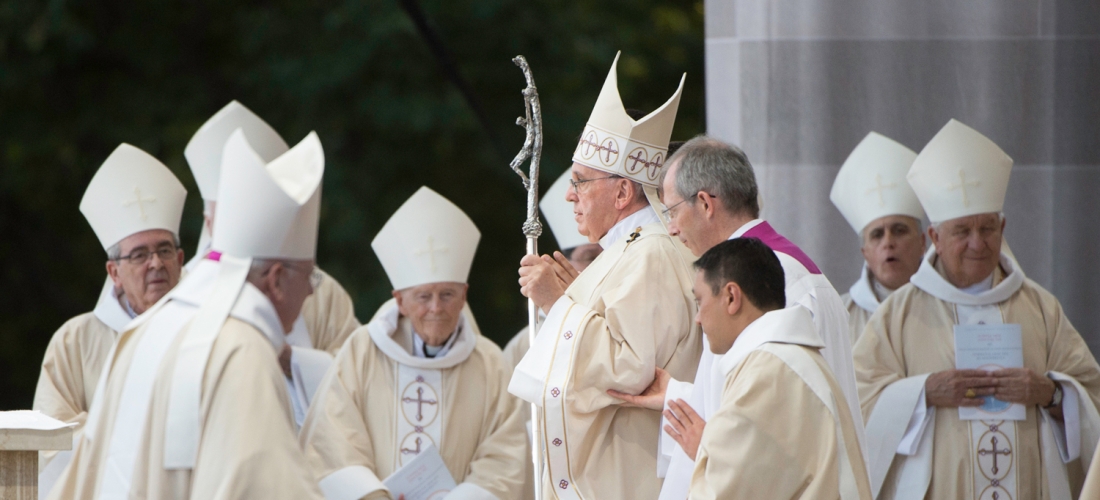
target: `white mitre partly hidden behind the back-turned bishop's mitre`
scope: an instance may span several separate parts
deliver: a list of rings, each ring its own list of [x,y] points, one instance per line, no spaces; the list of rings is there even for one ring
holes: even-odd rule
[[[244,132],[252,147],[264,163],[272,162],[289,149],[286,141],[267,122],[237,101],[227,104],[199,127],[184,148],[184,157],[191,167],[195,184],[202,199],[218,199],[218,180],[221,178],[221,154],[226,142],[237,130]]]

